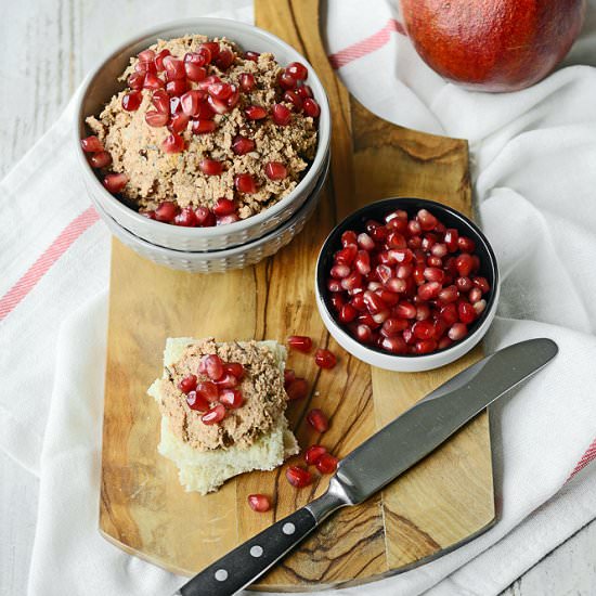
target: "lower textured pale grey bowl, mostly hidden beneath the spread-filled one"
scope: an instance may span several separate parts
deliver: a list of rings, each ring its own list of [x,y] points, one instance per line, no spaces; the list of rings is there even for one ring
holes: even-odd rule
[[[321,199],[321,190],[327,178],[328,164],[329,160],[327,159],[325,170],[320,177],[319,183],[311,196],[302,204],[301,208],[277,230],[244,244],[243,246],[223,250],[190,252],[151,244],[122,228],[122,225],[112,218],[98,202],[93,202],[93,204],[111,232],[122,244],[132,248],[132,250],[150,261],[170,269],[187,271],[190,273],[223,273],[232,269],[243,269],[257,264],[265,257],[274,255],[282,247],[289,244],[294,236],[302,231],[306,222],[312,216]]]

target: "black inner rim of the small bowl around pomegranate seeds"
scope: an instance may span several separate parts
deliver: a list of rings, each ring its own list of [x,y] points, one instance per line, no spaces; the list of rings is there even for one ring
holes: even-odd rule
[[[476,275],[487,277],[488,282],[491,285],[489,295],[484,296],[487,300],[487,308],[484,312],[468,327],[468,335],[471,336],[478,327],[482,325],[487,319],[489,312],[491,311],[494,300],[497,294],[498,288],[498,268],[496,264],[496,257],[494,251],[481,232],[481,230],[469,220],[466,216],[456,211],[455,209],[448,207],[441,203],[430,200],[427,198],[417,198],[417,197],[390,197],[371,203],[361,207],[353,213],[349,215],[346,219],[339,222],[329,233],[321,251],[319,254],[319,259],[316,261],[316,286],[319,289],[319,295],[323,299],[327,314],[333,320],[337,328],[346,334],[348,337],[360,344],[363,348],[377,352],[383,355],[394,357],[394,358],[424,358],[437,353],[446,352],[455,346],[459,345],[462,341],[465,341],[466,338],[459,341],[455,341],[453,345],[441,350],[435,350],[428,354],[392,354],[381,348],[378,348],[374,345],[361,344],[355,337],[353,337],[348,329],[345,328],[344,324],[339,322],[337,318],[337,312],[331,303],[331,291],[327,289],[327,277],[328,271],[332,267],[333,257],[341,248],[341,234],[347,230],[354,230],[357,233],[364,231],[364,224],[367,220],[374,219],[376,221],[383,222],[385,216],[390,213],[396,209],[403,209],[407,211],[409,217],[414,216],[420,209],[427,209],[433,216],[436,216],[446,228],[455,228],[459,235],[469,236],[476,242],[475,254],[480,258],[480,269]]]

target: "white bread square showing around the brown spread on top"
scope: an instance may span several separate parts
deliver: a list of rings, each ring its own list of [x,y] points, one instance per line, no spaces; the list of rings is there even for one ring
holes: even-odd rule
[[[187,337],[168,338],[164,351],[164,366],[176,363],[189,344],[197,342]],[[241,342],[242,344],[242,342]],[[261,341],[276,358],[277,365],[283,372],[285,368],[286,349],[276,341]],[[156,401],[160,401],[159,384],[155,381],[147,393]],[[297,454],[300,449],[287,420],[282,414],[267,435],[247,449],[232,445],[228,449],[197,451],[171,432],[168,418],[161,418],[161,440],[158,452],[171,459],[179,469],[180,483],[186,491],[196,491],[207,494],[216,491],[225,480],[245,471],[271,470],[282,465],[290,455]]]

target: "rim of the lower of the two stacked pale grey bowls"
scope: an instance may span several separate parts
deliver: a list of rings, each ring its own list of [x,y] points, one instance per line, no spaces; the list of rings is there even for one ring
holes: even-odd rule
[[[329,172],[329,165],[331,165],[331,158],[327,159],[324,166],[324,170],[321,173],[321,178],[316,181],[316,184],[313,191],[309,194],[307,199],[302,203],[302,205],[300,205],[300,207],[296,210],[296,212],[291,215],[291,217],[289,217],[280,226],[275,228],[274,230],[271,230],[263,236],[251,239],[250,242],[247,242],[245,244],[241,244],[239,246],[231,246],[230,248],[218,248],[215,250],[179,250],[178,248],[169,248],[168,246],[159,246],[158,244],[153,244],[150,241],[141,236],[138,236],[137,234],[134,234],[134,232],[131,232],[130,230],[125,228],[119,221],[113,218],[105,210],[103,205],[101,205],[95,198],[91,198],[91,202],[93,204],[93,207],[98,210],[102,219],[108,218],[112,221],[112,223],[116,225],[125,236],[129,236],[131,242],[140,244],[141,246],[144,246],[146,249],[157,250],[158,252],[170,255],[172,258],[173,257],[186,258],[186,259],[200,258],[200,257],[204,259],[208,259],[209,257],[229,258],[237,254],[242,254],[244,251],[248,251],[254,248],[257,248],[258,246],[262,244],[267,244],[268,242],[271,242],[275,236],[282,234],[288,228],[290,228],[305,212],[308,212],[310,209],[315,209],[318,204],[320,203],[320,199],[321,199],[320,195],[327,180],[327,176]],[[106,223],[106,225],[109,228],[108,223]],[[115,235],[114,232],[112,232],[112,230],[109,232],[112,235]]]

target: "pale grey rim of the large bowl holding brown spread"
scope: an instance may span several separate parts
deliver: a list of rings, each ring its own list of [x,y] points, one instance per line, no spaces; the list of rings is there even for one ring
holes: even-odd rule
[[[251,34],[257,34],[257,36],[261,37],[263,41],[271,43],[273,46],[281,46],[286,52],[290,54],[296,55],[296,61],[301,61],[305,63],[307,68],[309,69],[309,85],[316,89],[319,91],[319,95],[316,98],[320,107],[321,107],[321,117],[319,119],[316,132],[318,132],[318,144],[316,144],[316,152],[314,154],[314,158],[312,163],[310,164],[307,173],[300,179],[296,187],[284,198],[272,205],[271,207],[268,207],[263,211],[256,213],[255,216],[250,216],[244,220],[236,221],[233,223],[229,223],[225,226],[225,233],[242,233],[244,230],[252,226],[257,226],[259,224],[262,224],[264,221],[267,221],[269,218],[274,217],[275,215],[283,212],[288,205],[290,205],[294,199],[300,195],[300,193],[303,192],[305,187],[312,182],[312,179],[316,177],[321,172],[321,168],[324,164],[324,158],[326,154],[328,153],[329,144],[331,144],[331,129],[332,129],[332,121],[331,121],[331,109],[329,109],[329,103],[327,99],[327,94],[325,92],[325,88],[323,87],[323,83],[319,79],[319,76],[316,75],[316,72],[308,62],[308,60],[300,54],[296,49],[294,49],[291,46],[280,39],[277,36],[261,29],[260,27],[257,27],[255,25],[250,25],[248,23],[244,23],[242,21],[236,21],[233,18],[221,18],[221,17],[211,17],[211,16],[197,16],[197,17],[191,17],[191,18],[184,18],[179,21],[172,21],[168,23],[163,23],[160,25],[156,25],[150,29],[145,29],[141,31],[140,34],[135,35],[134,37],[128,38],[122,43],[120,43],[115,50],[113,50],[108,56],[101,60],[99,64],[96,64],[91,72],[87,75],[79,93],[79,96],[77,98],[76,103],[76,114],[74,118],[74,126],[72,127],[72,130],[74,131],[75,135],[75,145],[76,145],[76,152],[78,155],[78,161],[82,166],[82,173],[86,176],[86,178],[89,180],[89,182],[94,186],[94,189],[101,193],[101,196],[105,200],[114,200],[116,198],[116,202],[114,203],[114,207],[116,210],[118,210],[122,217],[130,217],[133,221],[135,221],[140,225],[146,225],[147,230],[152,229],[157,232],[160,230],[161,232],[167,232],[169,234],[172,234],[174,237],[189,237],[189,235],[195,236],[195,237],[202,237],[205,239],[209,238],[216,238],[222,235],[222,229],[221,228],[185,228],[185,226],[178,226],[178,225],[170,225],[160,221],[153,221],[144,216],[141,216],[138,211],[132,209],[131,207],[128,207],[125,205],[119,198],[112,195],[100,182],[98,177],[95,176],[94,170],[89,165],[88,160],[86,159],[85,152],[80,147],[80,131],[81,128],[83,128],[85,125],[85,118],[86,115],[82,113],[82,105],[85,102],[85,99],[87,98],[87,94],[89,92],[89,89],[93,81],[98,78],[104,66],[113,59],[118,56],[121,53],[125,53],[128,49],[143,42],[147,38],[158,38],[163,37],[167,39],[168,37],[171,37],[168,35],[167,31],[170,29],[179,29],[187,27],[189,29],[199,29],[200,26],[205,26],[205,24],[209,24],[210,26],[219,26],[222,28],[221,37],[228,37],[229,34],[225,30],[225,27],[234,29],[241,29],[245,31],[250,31]],[[192,31],[189,30],[189,34],[192,35]],[[234,41],[233,35],[230,35],[229,39],[231,41]],[[153,41],[148,41],[147,43],[151,44]],[[273,53],[273,52],[272,52]],[[314,83],[314,85],[311,85]],[[321,126],[321,124],[324,124],[324,126]],[[159,225],[160,228],[155,228],[156,225]],[[165,229],[163,226],[168,225],[168,229]]]

